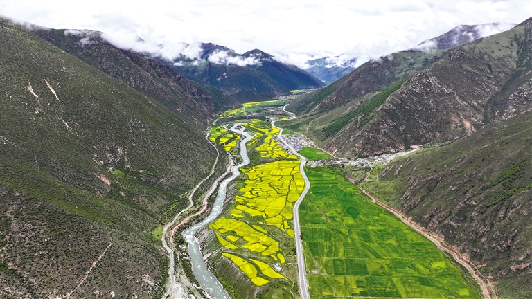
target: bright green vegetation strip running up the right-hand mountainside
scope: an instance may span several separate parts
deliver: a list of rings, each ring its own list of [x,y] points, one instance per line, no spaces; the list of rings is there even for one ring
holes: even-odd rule
[[[342,116],[342,118],[339,118],[338,120],[335,120],[335,122],[328,125],[328,127],[323,129],[323,132],[328,136],[333,136],[348,123],[351,123],[354,118],[357,118],[357,126],[353,129],[360,129],[361,127],[364,127],[364,125],[369,123],[371,118],[373,118],[373,111],[378,109],[378,107],[384,103],[384,100],[386,100],[388,96],[393,93],[393,91],[398,90],[401,87],[401,84],[406,80],[407,79],[400,80],[399,82],[391,84],[389,87],[382,89],[382,91],[380,91],[376,96],[373,96],[373,98],[370,98],[367,102],[364,102],[353,111],[350,111],[348,114]]]

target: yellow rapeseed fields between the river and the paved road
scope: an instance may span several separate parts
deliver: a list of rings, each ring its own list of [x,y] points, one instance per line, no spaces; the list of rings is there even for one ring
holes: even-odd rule
[[[209,228],[224,247],[223,255],[251,282],[261,286],[272,279],[287,280],[281,272],[280,264],[285,264],[286,257],[279,236],[294,237],[293,203],[299,198],[305,182],[297,157],[284,152],[272,138],[272,134],[278,134],[277,129],[260,122],[247,126],[259,136],[265,135],[265,138],[256,139],[263,143],[258,147],[263,147],[264,143],[268,145],[260,149],[264,157],[283,160],[241,169],[245,179],[235,203]]]

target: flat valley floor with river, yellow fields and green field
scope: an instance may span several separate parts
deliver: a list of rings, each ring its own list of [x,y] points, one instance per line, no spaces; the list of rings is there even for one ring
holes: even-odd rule
[[[263,115],[286,118],[282,108]],[[474,280],[429,239],[346,181],[344,165],[305,166],[275,121],[238,114],[213,126],[210,138],[241,162],[218,186],[209,216],[183,233],[193,274],[211,298],[480,298]],[[207,227],[215,250],[195,235]],[[223,286],[236,281],[228,293]]]

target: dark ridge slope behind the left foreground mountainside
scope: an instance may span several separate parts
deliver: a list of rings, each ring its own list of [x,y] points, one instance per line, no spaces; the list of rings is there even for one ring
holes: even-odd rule
[[[183,111],[182,116],[199,116],[194,119],[196,122],[204,122],[213,114],[238,105],[219,89],[189,82],[168,64],[133,50],[116,48],[105,41],[100,32],[34,28],[35,34],[51,44],[161,100],[168,107]]]

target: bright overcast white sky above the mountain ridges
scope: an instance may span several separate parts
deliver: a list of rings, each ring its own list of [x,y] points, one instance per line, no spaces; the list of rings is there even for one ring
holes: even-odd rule
[[[309,56],[378,57],[460,24],[520,23],[526,1],[0,1],[0,13],[50,28],[100,30],[148,42],[260,48],[301,64]]]

